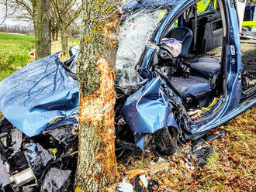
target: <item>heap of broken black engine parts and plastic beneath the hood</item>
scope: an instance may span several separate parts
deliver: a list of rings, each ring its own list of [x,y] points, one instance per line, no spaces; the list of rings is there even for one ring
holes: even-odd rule
[[[74,152],[78,141],[77,135],[71,134],[74,127],[62,127],[66,132],[55,134],[55,139],[50,135],[54,130],[29,138],[3,118],[0,123],[0,191],[32,192],[40,187],[41,191],[64,191],[76,167]],[[63,142],[67,138],[69,142]]]

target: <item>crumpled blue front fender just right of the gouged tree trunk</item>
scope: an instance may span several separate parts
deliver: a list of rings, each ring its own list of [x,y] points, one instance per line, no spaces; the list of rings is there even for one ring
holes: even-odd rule
[[[171,104],[161,87],[161,77],[155,77],[127,98],[121,113],[140,149],[144,149],[145,134],[169,126],[178,129]]]

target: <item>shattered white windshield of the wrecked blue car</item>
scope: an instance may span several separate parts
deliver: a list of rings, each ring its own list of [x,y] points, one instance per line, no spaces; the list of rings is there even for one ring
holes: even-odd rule
[[[143,8],[123,15],[116,57],[116,84],[127,87],[140,82],[135,66],[167,12],[168,9]]]

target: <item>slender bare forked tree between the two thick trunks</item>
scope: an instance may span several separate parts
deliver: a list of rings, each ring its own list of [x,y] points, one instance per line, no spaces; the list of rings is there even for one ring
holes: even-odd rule
[[[77,19],[81,12],[81,3],[78,0],[51,0],[50,9],[52,19],[61,30],[61,48],[64,56],[68,53],[67,27]]]

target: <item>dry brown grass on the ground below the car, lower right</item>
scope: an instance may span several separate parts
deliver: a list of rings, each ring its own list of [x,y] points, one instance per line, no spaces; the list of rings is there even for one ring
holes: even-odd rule
[[[150,175],[159,183],[159,191],[255,191],[254,119],[256,119],[256,106],[227,122],[226,125],[220,126],[220,129],[226,130],[227,135],[209,143],[214,150],[208,156],[206,166],[198,166],[197,163],[192,162],[195,169],[190,170],[184,166],[185,152],[165,157],[169,163],[168,171],[162,170],[159,164],[159,171]],[[150,172],[152,162],[157,160],[158,157],[153,153],[127,154],[119,160],[121,180],[127,177],[133,182],[134,178],[140,175],[141,170],[145,173]],[[133,178],[130,178],[129,173],[132,170]],[[137,171],[137,175],[134,171]]]

